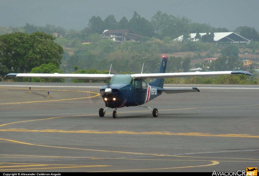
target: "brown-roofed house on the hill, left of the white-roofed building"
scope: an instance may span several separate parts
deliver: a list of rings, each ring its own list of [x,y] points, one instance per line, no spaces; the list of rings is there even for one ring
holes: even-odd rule
[[[124,41],[139,42],[143,36],[135,34],[130,29],[104,30],[103,39],[111,39],[114,42],[122,43]]]

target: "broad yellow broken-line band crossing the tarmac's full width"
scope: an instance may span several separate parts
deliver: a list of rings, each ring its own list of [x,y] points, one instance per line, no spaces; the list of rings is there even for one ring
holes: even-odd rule
[[[77,131],[64,131],[60,129],[41,129],[41,130],[29,130],[29,129],[0,129],[0,132],[54,132],[54,133],[93,133],[93,134],[148,134],[148,135],[180,135],[180,136],[210,136],[210,137],[254,137],[250,134],[211,134],[211,133],[172,133],[172,132],[135,132],[135,131],[97,131],[97,130],[77,130]]]

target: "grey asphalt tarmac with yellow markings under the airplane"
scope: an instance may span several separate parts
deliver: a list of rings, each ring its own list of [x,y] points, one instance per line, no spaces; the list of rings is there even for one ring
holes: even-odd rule
[[[258,85],[165,85],[112,118],[101,83],[0,82],[0,172],[213,172],[259,165]],[[31,93],[29,93],[31,87]],[[49,92],[49,98],[48,94]],[[89,98],[90,97],[90,98]]]

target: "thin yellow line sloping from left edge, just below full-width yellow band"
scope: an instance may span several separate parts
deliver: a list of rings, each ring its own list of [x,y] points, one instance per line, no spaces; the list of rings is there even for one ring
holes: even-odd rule
[[[102,151],[102,152],[114,152],[114,153],[125,153],[125,154],[138,154],[138,155],[157,155],[157,154],[145,154],[145,153],[134,153],[134,152],[123,152],[123,151],[109,151],[109,150],[94,150],[94,149],[80,149],[80,148],[70,148],[70,147],[46,146],[46,145],[40,145],[40,144],[31,144],[31,143],[26,143],[26,142],[14,141],[14,140],[11,140],[11,139],[3,139],[3,138],[0,138],[0,140],[16,142],[16,143],[20,143],[20,144],[33,145],[33,146],[41,146],[41,147],[53,147],[53,148],[88,150],[88,151]],[[159,155],[159,156],[164,156],[164,155]]]

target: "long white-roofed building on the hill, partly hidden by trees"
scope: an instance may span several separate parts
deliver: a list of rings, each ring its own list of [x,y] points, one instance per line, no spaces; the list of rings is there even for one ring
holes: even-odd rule
[[[199,39],[195,39],[197,33],[191,33],[191,40],[198,41]],[[201,36],[205,35],[206,33],[199,33]],[[210,34],[210,33],[209,33]],[[183,35],[174,39],[175,41],[182,42]],[[214,42],[215,43],[249,43],[250,40],[234,33],[234,32],[215,32],[214,33]]]

